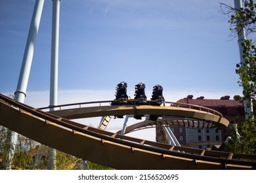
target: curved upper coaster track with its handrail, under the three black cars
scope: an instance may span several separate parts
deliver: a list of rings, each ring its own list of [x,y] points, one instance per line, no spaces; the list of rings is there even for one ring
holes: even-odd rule
[[[156,124],[167,125],[183,125],[184,127],[193,128],[218,128],[225,129],[228,127],[228,120],[216,110],[200,107],[196,105],[188,105],[183,103],[165,102],[163,106],[150,105],[154,101],[146,101],[147,105],[109,105],[112,101],[94,101],[87,103],[73,103],[68,105],[54,106],[51,114],[61,116],[63,118],[78,119],[92,118],[99,116],[123,116],[123,115],[144,115],[153,114],[158,116],[171,116],[168,119],[155,122]],[[129,99],[127,103],[136,103],[136,100]],[[107,103],[107,105],[106,105]],[[83,105],[98,104],[94,107],[83,107]],[[105,104],[105,105],[104,105]],[[165,106],[165,104],[171,104]],[[78,108],[74,108],[78,106]],[[64,107],[72,107],[66,108]],[[49,109],[49,107],[39,108],[41,110]],[[151,121],[152,122],[152,121]]]

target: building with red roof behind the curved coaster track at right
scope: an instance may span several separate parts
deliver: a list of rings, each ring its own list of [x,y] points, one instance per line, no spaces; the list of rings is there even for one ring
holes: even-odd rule
[[[223,114],[230,125],[228,129],[192,129],[185,128],[183,126],[173,126],[171,131],[179,141],[181,145],[196,144],[196,142],[223,142],[228,136],[230,136],[230,129],[232,124],[244,120],[244,103],[241,103],[237,99],[239,95],[235,95],[233,99],[230,99],[229,95],[225,95],[220,99],[205,99],[204,96],[194,98],[193,95],[188,95],[183,99],[179,99],[177,103],[186,103],[190,105],[198,105],[202,107],[211,108],[217,110]],[[168,116],[166,116],[168,118]],[[162,127],[156,128],[156,139],[157,141],[167,142],[167,135],[165,135]],[[196,148],[210,148],[212,145],[196,145]]]

